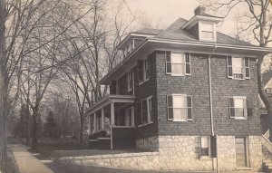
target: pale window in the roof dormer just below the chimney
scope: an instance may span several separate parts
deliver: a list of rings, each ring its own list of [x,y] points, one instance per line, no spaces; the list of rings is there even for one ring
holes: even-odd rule
[[[199,40],[216,41],[216,25],[213,23],[199,23]]]

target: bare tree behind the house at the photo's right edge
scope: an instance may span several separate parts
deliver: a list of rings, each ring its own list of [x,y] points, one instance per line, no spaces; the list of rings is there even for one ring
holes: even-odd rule
[[[239,33],[251,33],[254,42],[260,47],[267,47],[272,42],[272,5],[269,0],[211,0],[203,2],[215,13],[224,11],[227,16],[236,6],[247,7],[247,12],[240,16]],[[246,8],[245,8],[246,9]],[[265,103],[267,114],[272,116],[272,103],[267,97],[262,80],[262,64],[265,56],[257,57],[257,85],[261,100]]]

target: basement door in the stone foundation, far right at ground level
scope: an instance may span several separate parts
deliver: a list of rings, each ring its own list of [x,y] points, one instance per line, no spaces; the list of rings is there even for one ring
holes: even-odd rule
[[[235,138],[236,166],[247,167],[247,146],[245,138]]]

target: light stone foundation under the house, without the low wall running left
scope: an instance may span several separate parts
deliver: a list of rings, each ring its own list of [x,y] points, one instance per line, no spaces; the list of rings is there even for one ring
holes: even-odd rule
[[[216,159],[199,158],[198,136],[159,136],[138,139],[139,149],[158,150],[160,169],[213,170]],[[218,137],[219,170],[222,172],[257,172],[262,169],[262,146],[259,136],[248,137],[248,156],[250,168],[236,168],[236,149],[234,136]]]

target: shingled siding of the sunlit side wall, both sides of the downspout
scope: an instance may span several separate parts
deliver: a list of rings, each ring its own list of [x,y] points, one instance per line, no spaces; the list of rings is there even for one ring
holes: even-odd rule
[[[191,53],[191,75],[170,76],[165,73],[165,52],[156,52],[159,135],[210,135],[208,55]],[[215,134],[260,135],[257,115],[256,61],[250,60],[250,79],[227,78],[226,56],[211,58],[211,82]],[[167,120],[166,95],[172,93],[192,96],[192,121]],[[248,120],[233,120],[228,115],[228,98],[246,96],[248,108],[253,108]]]

